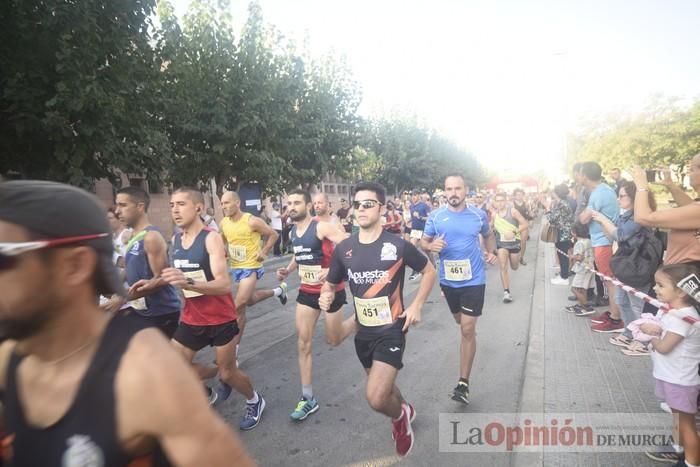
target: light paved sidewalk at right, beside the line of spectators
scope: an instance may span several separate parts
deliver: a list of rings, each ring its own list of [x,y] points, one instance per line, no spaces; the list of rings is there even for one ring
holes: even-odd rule
[[[554,248],[539,244],[530,341],[520,412],[662,413],[654,395],[651,359],[630,357],[608,342],[616,334],[590,329],[588,317],[564,311],[569,287],[550,279]],[[597,312],[607,308],[597,308]],[[672,417],[668,415],[669,434]],[[519,453],[516,466],[658,466],[643,452]]]

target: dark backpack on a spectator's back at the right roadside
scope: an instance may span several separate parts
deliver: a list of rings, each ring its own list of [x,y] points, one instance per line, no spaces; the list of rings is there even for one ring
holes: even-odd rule
[[[661,240],[646,227],[635,234],[633,248],[628,242],[619,242],[610,259],[615,277],[632,287],[645,287],[654,281],[654,274],[663,261],[664,248]]]

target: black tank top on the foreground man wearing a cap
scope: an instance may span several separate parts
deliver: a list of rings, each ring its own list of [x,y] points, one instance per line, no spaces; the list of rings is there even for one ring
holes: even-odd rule
[[[17,368],[24,356],[13,352],[7,368],[3,405],[7,435],[2,441],[4,465],[22,467],[166,467],[160,446],[145,458],[133,458],[117,436],[115,377],[129,341],[141,328],[114,316],[83,376],[75,400],[56,423],[37,428],[27,423],[17,394]]]

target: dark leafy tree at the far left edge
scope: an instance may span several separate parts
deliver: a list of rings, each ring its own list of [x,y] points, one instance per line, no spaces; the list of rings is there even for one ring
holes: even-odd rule
[[[154,178],[170,149],[158,118],[148,0],[0,5],[0,174],[89,187]]]

